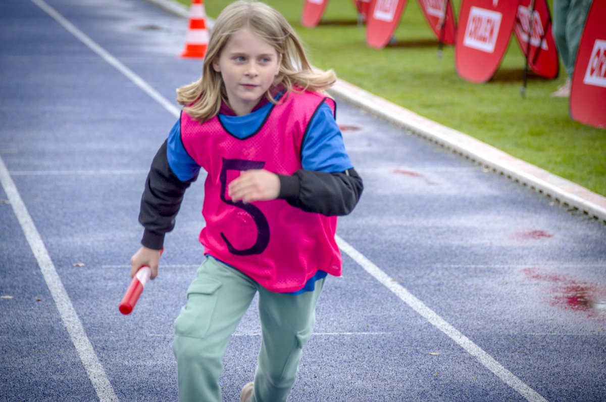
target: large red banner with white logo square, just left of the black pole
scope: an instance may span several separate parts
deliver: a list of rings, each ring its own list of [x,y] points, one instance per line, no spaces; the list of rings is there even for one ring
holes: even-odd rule
[[[462,0],[454,46],[459,76],[474,83],[493,77],[516,23],[518,0]]]

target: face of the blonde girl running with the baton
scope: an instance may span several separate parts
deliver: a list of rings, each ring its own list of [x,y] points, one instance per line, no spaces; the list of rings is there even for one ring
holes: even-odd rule
[[[231,35],[213,69],[221,73],[227,100],[237,115],[249,114],[278,75],[276,50],[248,28]]]

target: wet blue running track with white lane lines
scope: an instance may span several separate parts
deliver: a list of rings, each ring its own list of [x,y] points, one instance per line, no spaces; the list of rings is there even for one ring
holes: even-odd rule
[[[172,322],[202,261],[202,179],[158,278],[118,302],[151,158],[201,61],[139,0],[0,2],[0,401],[175,401]],[[290,400],[606,400],[606,225],[341,100],[365,182],[339,220]],[[236,401],[255,307],[225,355]]]

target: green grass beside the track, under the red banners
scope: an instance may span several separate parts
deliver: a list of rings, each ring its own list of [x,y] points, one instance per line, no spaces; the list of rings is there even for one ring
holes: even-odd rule
[[[216,18],[230,2],[205,2],[207,14]],[[473,84],[456,73],[453,47],[437,57],[438,41],[418,1],[408,0],[396,43],[381,50],[365,44],[352,0],[330,0],[313,29],[299,23],[301,0],[265,2],[296,29],[316,67],[606,196],[606,131],[571,120],[568,100],[549,96],[564,82],[562,67],[557,80],[531,74],[521,97],[524,57],[513,36],[493,80]],[[460,1],[454,4],[458,15]]]

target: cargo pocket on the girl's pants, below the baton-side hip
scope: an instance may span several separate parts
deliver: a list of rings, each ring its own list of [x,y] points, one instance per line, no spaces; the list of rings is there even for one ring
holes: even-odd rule
[[[204,338],[217,304],[221,282],[205,278],[194,280],[187,289],[187,304],[175,320],[175,335]]]

